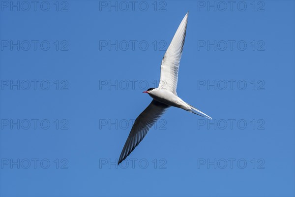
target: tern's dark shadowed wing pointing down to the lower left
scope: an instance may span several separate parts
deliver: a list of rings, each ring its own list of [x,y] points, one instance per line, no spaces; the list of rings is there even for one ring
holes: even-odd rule
[[[148,133],[148,130],[168,107],[168,105],[156,100],[151,101],[148,107],[135,120],[121,152],[118,164],[120,164],[143,140]]]

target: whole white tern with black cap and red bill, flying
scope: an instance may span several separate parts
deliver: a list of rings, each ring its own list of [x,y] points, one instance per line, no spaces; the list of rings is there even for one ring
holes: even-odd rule
[[[137,117],[121,152],[118,164],[134,150],[143,140],[148,130],[170,106],[178,107],[194,114],[212,119],[202,111],[184,102],[177,96],[177,79],[180,58],[182,54],[188,12],[182,19],[164,57],[161,65],[161,77],[158,88],[149,88],[143,93],[153,99],[148,107]]]

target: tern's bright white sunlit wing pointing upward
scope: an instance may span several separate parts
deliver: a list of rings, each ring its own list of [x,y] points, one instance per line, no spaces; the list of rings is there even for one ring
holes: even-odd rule
[[[188,12],[182,19],[164,57],[161,65],[159,89],[168,90],[177,95],[177,80],[180,58],[182,54]]]

